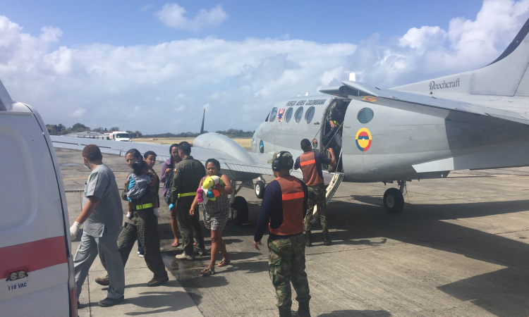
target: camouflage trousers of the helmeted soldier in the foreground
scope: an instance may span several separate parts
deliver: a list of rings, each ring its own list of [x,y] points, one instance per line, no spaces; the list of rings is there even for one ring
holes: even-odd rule
[[[296,300],[310,299],[305,273],[305,235],[293,235],[281,240],[268,240],[268,265],[272,284],[276,289],[278,307],[292,306],[290,283],[296,290]]]

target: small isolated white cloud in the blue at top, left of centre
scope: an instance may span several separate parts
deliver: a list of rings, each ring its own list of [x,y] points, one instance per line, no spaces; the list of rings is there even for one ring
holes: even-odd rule
[[[228,13],[218,4],[209,10],[200,9],[195,18],[186,18],[186,9],[178,4],[164,4],[155,15],[164,25],[177,30],[200,30],[202,27],[216,27],[228,18]]]

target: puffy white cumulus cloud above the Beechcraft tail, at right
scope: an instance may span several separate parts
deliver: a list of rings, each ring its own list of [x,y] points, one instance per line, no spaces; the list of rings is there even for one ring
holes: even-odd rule
[[[382,87],[460,73],[494,61],[529,18],[529,0],[485,0],[475,20],[412,27],[396,40],[379,43],[377,35],[360,44],[348,69],[360,82]]]

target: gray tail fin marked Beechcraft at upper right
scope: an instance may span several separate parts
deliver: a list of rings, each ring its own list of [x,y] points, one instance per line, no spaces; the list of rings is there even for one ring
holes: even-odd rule
[[[393,89],[419,94],[529,96],[529,19],[513,42],[489,65],[466,73],[425,80]]]

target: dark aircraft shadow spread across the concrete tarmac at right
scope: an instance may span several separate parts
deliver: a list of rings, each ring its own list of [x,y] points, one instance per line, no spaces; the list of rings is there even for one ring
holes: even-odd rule
[[[526,301],[529,297],[529,244],[515,240],[516,237],[503,237],[449,222],[461,218],[527,211],[529,200],[406,204],[404,211],[395,215],[379,206],[372,206],[374,201],[379,204],[382,202],[378,197],[352,197],[370,205],[347,201],[336,201],[329,205],[329,228],[338,229],[337,232],[332,232],[335,244],[351,244],[351,239],[357,243],[367,240],[366,243],[370,244],[371,237],[385,237],[384,239],[418,244],[506,266],[499,271],[476,275],[437,288],[462,302],[470,301],[496,316],[529,316]],[[517,234],[520,235],[518,239],[528,238],[523,232]],[[337,311],[320,316],[390,315]]]

